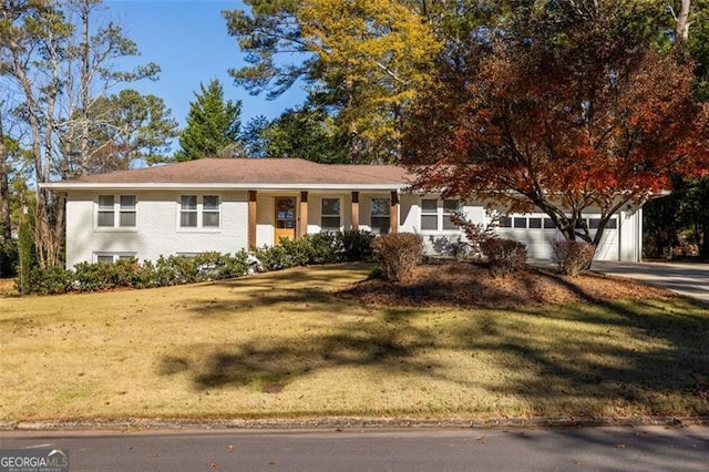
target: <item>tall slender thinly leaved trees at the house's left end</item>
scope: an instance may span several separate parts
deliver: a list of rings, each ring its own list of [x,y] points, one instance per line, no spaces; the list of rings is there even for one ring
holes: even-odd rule
[[[105,21],[100,0],[7,0],[0,9],[0,81],[31,150],[34,181],[89,173],[90,109],[122,82],[155,78],[154,63],[121,70],[137,55],[120,25]],[[59,261],[64,223],[61,196],[37,187],[33,230],[38,261]]]

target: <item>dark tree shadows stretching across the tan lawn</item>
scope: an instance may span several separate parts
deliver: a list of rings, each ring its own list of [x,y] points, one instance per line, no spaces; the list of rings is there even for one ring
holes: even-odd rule
[[[292,279],[294,274],[287,276]],[[256,335],[206,351],[199,342],[194,349],[183,346],[162,358],[160,372],[186,372],[197,390],[260,389],[269,383],[287,387],[318,371],[357,367],[381,376],[442,380],[453,389],[473,382],[491,398],[515,397],[530,413],[540,415],[638,411],[709,415],[709,314],[698,302],[679,298],[598,302],[578,293],[586,302],[507,310],[449,308],[443,315],[436,309],[391,307],[372,309],[352,321],[338,317],[352,305],[335,300],[322,288],[326,273],[316,279],[322,287],[307,274],[297,277],[301,288],[279,289],[270,278],[251,280],[239,294],[246,301],[238,307],[308,310],[321,304],[320,316],[333,315],[327,329]],[[238,307],[234,300],[214,300],[194,311],[213,316],[234,314]],[[481,372],[480,380],[471,381],[462,368],[432,362],[439,351],[462,358],[484,353],[493,366],[481,368],[496,371]],[[495,380],[483,380],[491,378]]]

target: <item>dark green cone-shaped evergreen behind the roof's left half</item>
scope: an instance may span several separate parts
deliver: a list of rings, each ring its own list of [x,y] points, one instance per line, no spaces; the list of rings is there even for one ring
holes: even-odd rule
[[[187,126],[179,136],[177,161],[203,157],[234,156],[239,146],[242,126],[242,102],[224,101],[224,89],[214,79],[205,88],[199,83],[199,93],[189,103]]]

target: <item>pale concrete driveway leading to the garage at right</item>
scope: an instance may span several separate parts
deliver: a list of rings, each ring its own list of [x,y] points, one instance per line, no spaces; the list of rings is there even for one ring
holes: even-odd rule
[[[709,264],[595,261],[590,268],[667,288],[709,304]]]

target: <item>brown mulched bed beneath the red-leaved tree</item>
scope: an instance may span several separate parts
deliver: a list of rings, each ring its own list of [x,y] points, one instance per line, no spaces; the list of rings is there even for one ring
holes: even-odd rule
[[[368,279],[337,294],[376,306],[520,307],[618,299],[669,299],[669,290],[621,277],[586,273],[566,277],[552,269],[526,267],[494,278],[484,264],[450,261],[419,266],[401,284]]]

